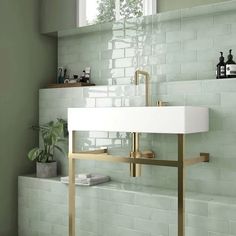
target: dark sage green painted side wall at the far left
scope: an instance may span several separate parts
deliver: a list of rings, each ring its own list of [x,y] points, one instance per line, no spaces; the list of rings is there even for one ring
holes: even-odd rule
[[[55,77],[57,41],[39,33],[38,0],[0,1],[0,235],[17,235],[17,176],[34,171],[38,90]]]

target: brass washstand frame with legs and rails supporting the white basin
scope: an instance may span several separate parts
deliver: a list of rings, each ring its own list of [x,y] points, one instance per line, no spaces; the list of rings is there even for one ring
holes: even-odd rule
[[[147,91],[147,90],[146,90]],[[147,94],[146,94],[147,95]],[[185,159],[185,134],[177,134],[178,138],[178,159],[157,160],[135,155],[130,157],[118,157],[109,155],[107,149],[99,149],[87,152],[75,152],[75,132],[69,130],[69,236],[75,236],[75,161],[76,160],[97,160],[117,163],[128,163],[133,166],[156,165],[178,168],[178,236],[185,236],[185,171],[186,167],[200,162],[209,162],[209,153],[200,153],[198,157]],[[133,144],[138,150],[139,142],[136,139],[138,133],[133,133]],[[135,140],[136,139],[136,140]],[[135,167],[136,168],[136,167]],[[135,169],[134,168],[134,169]],[[132,176],[132,175],[131,175]]]

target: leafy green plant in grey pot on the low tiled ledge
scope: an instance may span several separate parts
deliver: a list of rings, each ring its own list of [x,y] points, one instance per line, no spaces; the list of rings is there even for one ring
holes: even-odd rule
[[[45,125],[33,126],[42,136],[42,147],[35,147],[28,153],[31,161],[36,161],[36,176],[49,178],[57,176],[57,162],[54,160],[55,149],[66,155],[60,146],[66,141],[67,122],[63,119],[50,121]]]

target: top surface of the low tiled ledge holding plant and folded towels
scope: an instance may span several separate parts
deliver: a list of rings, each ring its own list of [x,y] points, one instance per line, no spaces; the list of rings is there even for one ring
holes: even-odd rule
[[[54,183],[54,184],[63,184],[60,182],[60,177],[56,178],[36,178],[35,175],[19,176],[19,179],[27,179],[29,181],[43,182],[43,183]],[[37,187],[37,185],[35,185]],[[149,196],[159,196],[159,197],[168,197],[172,199],[177,198],[176,190],[156,188],[151,186],[140,186],[136,184],[120,183],[120,182],[108,182],[96,186],[76,186],[76,188],[91,188],[99,190],[110,190],[110,191],[122,191],[127,193],[136,193]],[[217,203],[224,205],[236,205],[236,198],[230,196],[220,196],[220,195],[210,195],[196,192],[186,192],[186,200],[188,201],[201,201],[207,203]]]

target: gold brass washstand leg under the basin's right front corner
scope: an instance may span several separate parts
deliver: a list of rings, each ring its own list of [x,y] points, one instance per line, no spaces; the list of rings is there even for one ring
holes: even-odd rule
[[[178,236],[185,236],[185,167],[184,167],[184,134],[178,134]]]

